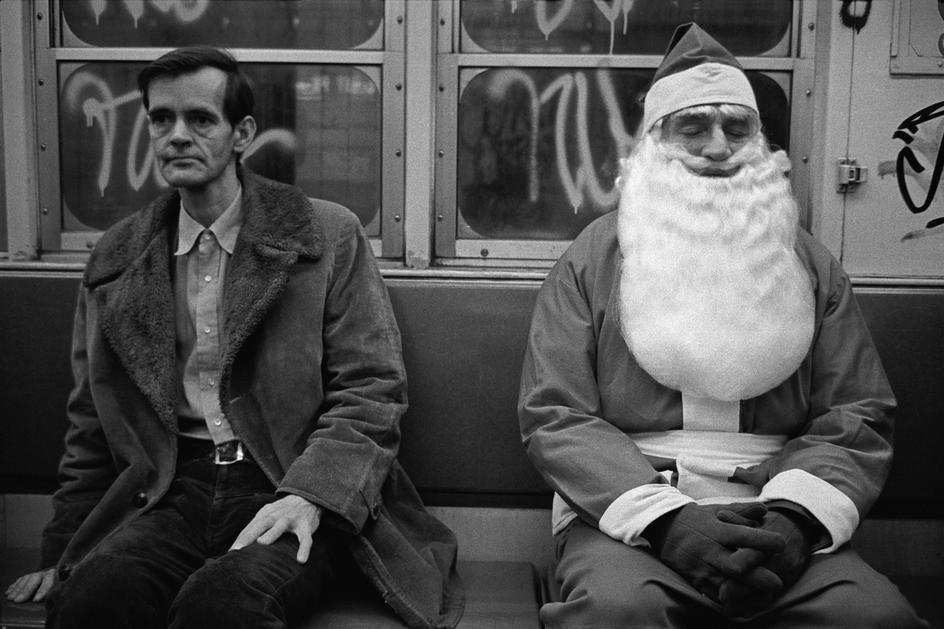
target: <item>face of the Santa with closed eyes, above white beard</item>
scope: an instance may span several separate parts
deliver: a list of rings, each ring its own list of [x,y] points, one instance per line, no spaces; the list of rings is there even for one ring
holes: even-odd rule
[[[738,164],[727,163],[753,136],[750,121],[722,113],[718,108],[699,107],[674,113],[662,125],[662,142],[682,148],[692,158],[685,165],[705,177],[730,177]]]

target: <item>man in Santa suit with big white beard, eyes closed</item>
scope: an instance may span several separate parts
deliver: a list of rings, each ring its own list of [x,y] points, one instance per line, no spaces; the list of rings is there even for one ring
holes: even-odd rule
[[[676,31],[617,212],[535,307],[519,414],[555,491],[557,627],[921,627],[849,547],[895,399],[734,57]]]

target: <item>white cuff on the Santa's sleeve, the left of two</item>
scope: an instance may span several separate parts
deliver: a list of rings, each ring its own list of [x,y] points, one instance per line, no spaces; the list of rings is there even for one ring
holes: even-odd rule
[[[600,518],[600,530],[630,546],[648,546],[640,537],[646,527],[690,502],[695,501],[671,485],[641,485],[610,503]]]

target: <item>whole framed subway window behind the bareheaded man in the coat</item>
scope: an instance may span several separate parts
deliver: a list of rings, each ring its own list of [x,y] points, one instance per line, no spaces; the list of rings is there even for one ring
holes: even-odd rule
[[[248,168],[347,206],[375,252],[402,248],[402,30],[382,0],[58,0],[37,26],[45,251],[87,251],[166,188],[149,150],[136,77],[178,46],[234,52],[256,97]],[[45,80],[55,77],[54,81]],[[48,134],[48,135],[47,135]],[[399,216],[398,216],[399,218]]]

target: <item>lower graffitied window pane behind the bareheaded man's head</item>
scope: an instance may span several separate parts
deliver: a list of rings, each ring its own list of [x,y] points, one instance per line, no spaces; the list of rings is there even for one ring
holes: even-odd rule
[[[102,230],[167,185],[135,87],[140,64],[67,66],[60,89],[63,228]],[[368,225],[380,205],[380,92],[343,66],[247,64],[260,132],[245,165],[350,207]]]

